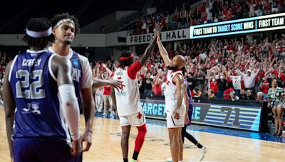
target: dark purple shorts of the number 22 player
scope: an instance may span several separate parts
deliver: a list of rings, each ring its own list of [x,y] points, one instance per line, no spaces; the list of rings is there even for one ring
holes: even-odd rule
[[[71,148],[64,142],[51,139],[16,138],[13,142],[14,161],[68,161],[81,162],[79,156],[71,156]]]

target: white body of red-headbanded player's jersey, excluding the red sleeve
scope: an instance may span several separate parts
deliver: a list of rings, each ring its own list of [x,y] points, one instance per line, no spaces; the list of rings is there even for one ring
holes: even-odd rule
[[[138,80],[131,79],[128,75],[128,68],[118,68],[114,73],[114,80],[123,82],[123,90],[115,90],[115,97],[119,115],[135,114],[140,109],[140,91]]]

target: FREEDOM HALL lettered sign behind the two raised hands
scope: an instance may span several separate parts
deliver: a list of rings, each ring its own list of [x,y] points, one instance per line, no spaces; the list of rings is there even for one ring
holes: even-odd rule
[[[154,33],[127,36],[127,45],[139,45],[139,44],[150,43],[152,38],[154,38]],[[188,28],[183,28],[175,31],[162,31],[160,36],[160,40],[162,42],[180,41],[185,39],[190,39],[190,33]]]

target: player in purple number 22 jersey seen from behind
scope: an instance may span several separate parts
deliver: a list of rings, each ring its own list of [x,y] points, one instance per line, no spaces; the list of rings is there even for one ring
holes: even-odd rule
[[[82,151],[71,62],[48,52],[46,18],[32,18],[29,50],[6,67],[3,98],[11,161],[73,161]],[[13,140],[12,140],[13,139]]]

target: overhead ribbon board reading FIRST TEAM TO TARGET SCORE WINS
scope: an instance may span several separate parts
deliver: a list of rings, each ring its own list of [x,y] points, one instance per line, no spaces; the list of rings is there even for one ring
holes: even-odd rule
[[[190,26],[190,38],[207,38],[285,29],[285,13]]]

